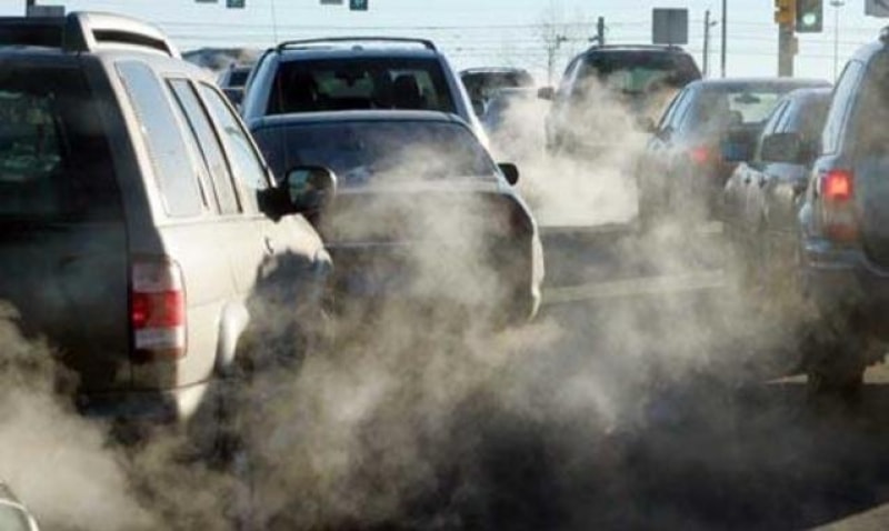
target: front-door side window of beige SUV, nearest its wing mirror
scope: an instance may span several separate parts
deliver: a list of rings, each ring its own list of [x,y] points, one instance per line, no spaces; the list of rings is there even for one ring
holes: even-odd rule
[[[266,168],[262,163],[249,134],[241,127],[240,121],[226,104],[223,97],[206,84],[200,87],[201,96],[207,102],[207,108],[212,114],[222,134],[222,144],[229,154],[231,171],[234,178],[247,189],[252,191],[264,190],[269,183],[266,178]],[[257,209],[256,193],[249,199]]]

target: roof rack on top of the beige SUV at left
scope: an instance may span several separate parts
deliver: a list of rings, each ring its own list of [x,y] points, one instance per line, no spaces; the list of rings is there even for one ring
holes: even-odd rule
[[[91,52],[142,47],[179,58],[179,50],[158,28],[119,14],[72,12],[66,17],[0,17],[0,46],[61,48]]]

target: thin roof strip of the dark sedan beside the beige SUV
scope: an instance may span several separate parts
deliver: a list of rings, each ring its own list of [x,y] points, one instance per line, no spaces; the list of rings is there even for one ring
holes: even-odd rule
[[[457,123],[469,128],[466,121],[463,121],[460,117],[449,112],[412,110],[353,110],[269,114],[251,121],[251,129],[346,122],[438,122]]]

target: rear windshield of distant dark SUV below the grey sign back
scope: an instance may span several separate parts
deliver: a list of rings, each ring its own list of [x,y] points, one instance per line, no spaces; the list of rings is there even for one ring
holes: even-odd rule
[[[662,88],[682,88],[700,79],[695,61],[681,53],[612,51],[587,57],[579,81],[596,80],[616,91],[640,93]],[[592,83],[578,83],[590,87]]]

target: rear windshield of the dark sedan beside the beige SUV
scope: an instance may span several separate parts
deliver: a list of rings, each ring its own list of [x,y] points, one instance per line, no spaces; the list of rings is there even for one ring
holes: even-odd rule
[[[343,186],[371,179],[493,177],[496,167],[476,137],[444,122],[308,123],[254,132],[274,174],[296,166],[326,166]]]

